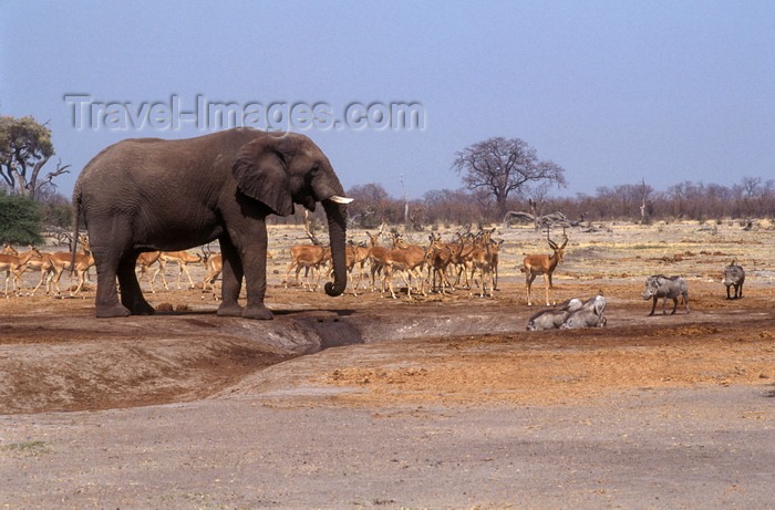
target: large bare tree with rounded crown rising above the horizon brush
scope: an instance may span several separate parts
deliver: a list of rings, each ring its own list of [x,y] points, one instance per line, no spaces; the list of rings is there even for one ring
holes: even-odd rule
[[[499,218],[508,209],[512,195],[525,196],[541,185],[565,186],[565,169],[540,160],[536,149],[519,138],[489,138],[455,154],[452,168],[463,176],[472,191],[484,190],[495,199]]]

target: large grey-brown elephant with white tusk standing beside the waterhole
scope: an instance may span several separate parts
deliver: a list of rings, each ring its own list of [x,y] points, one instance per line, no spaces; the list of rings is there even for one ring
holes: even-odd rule
[[[236,127],[195,138],[124,139],[86,164],[73,190],[97,271],[97,318],[153,314],[135,261],[145,251],[178,251],[220,241],[223,302],[218,315],[269,320],[265,306],[267,216],[293,214],[293,204],[326,210],[333,283],[347,287],[347,204],[323,152],[307,136]],[[238,296],[242,287],[247,303]],[[121,302],[116,288],[121,287]]]

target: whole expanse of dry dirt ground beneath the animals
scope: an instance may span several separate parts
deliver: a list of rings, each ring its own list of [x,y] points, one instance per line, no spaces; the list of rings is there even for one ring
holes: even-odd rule
[[[524,331],[529,228],[496,236],[485,299],[285,289],[303,236],[277,227],[271,322],[175,285],[154,316],[2,300],[0,508],[772,508],[775,231],[604,227],[570,232],[554,291],[602,290],[604,329]],[[647,316],[655,273],[691,314]]]

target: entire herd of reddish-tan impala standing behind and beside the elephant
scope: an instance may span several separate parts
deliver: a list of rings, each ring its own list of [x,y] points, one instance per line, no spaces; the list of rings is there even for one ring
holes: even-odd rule
[[[495,229],[457,233],[453,242],[442,242],[440,235],[431,235],[427,246],[407,243],[399,233],[386,235],[380,229],[376,233],[366,232],[369,241],[355,244],[350,242],[347,248],[347,268],[350,273],[351,292],[358,295],[359,290],[381,291],[396,299],[393,281],[396,277],[403,280],[406,294],[427,295],[428,292],[446,294],[456,289],[466,289],[474,294],[474,285],[479,288],[478,295],[492,295],[498,283],[498,253],[503,241],[492,238]],[[390,247],[380,244],[380,238],[389,239]],[[550,304],[551,275],[557,264],[562,262],[562,250],[568,242],[564,233],[564,242],[557,244],[548,238],[551,254],[529,254],[524,260],[521,271],[525,272],[527,303],[533,304],[530,289],[537,275],[544,277],[546,302]],[[94,264],[94,258],[89,250],[89,241],[81,240],[81,252],[58,251],[43,253],[30,246],[27,251],[19,252],[6,244],[0,253],[0,271],[6,271],[6,298],[11,291],[21,294],[27,285],[22,279],[24,271],[40,271],[40,281],[30,292],[32,295],[45,282],[45,293],[61,296],[60,278],[64,271],[71,271],[78,277],[78,285],[71,287],[70,295],[79,294],[86,281],[87,271]],[[271,254],[267,252],[271,258]],[[290,249],[291,263],[285,274],[285,287],[288,288],[290,274],[294,271],[294,282],[304,289],[314,291],[320,285],[324,273],[330,273],[331,251],[319,244],[297,244]],[[137,259],[137,274],[142,282],[146,279],[154,291],[158,275],[165,289],[169,289],[166,279],[166,266],[175,262],[178,267],[177,288],[185,272],[192,289],[196,288],[188,264],[203,264],[207,272],[202,283],[203,292],[213,291],[215,281],[223,270],[223,258],[209,250],[199,254],[187,251],[155,251],[142,253]],[[74,266],[71,268],[71,263]],[[152,271],[153,267],[155,271]],[[304,279],[300,272],[304,270]]]

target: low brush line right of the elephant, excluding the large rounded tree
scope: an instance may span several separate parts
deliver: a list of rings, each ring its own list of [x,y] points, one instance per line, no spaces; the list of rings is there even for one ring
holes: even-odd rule
[[[347,195],[351,222],[375,228],[404,222],[403,199],[391,197],[379,184],[354,186]],[[427,191],[410,202],[409,227],[502,222],[499,206],[486,192],[468,189]],[[657,191],[645,184],[601,186],[595,195],[575,197],[510,197],[507,210],[548,215],[564,212],[571,220],[642,221],[775,218],[775,180],[743,177],[732,187],[684,181]]]

